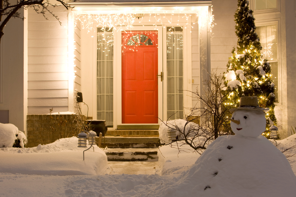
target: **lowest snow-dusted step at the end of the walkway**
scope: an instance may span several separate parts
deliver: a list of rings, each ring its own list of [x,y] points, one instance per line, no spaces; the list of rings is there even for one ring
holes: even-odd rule
[[[104,152],[108,161],[158,161],[158,148],[107,148]]]

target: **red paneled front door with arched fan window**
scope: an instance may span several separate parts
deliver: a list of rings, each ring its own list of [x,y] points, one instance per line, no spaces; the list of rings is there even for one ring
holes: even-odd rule
[[[157,31],[122,33],[122,123],[158,123]]]

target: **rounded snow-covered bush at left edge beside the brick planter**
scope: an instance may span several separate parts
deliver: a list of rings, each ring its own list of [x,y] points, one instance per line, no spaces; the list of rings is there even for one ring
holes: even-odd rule
[[[0,123],[0,147],[23,148],[27,143],[27,138],[22,131],[13,124]]]

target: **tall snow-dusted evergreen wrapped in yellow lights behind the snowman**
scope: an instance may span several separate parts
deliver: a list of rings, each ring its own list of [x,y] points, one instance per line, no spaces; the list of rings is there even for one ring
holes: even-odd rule
[[[274,83],[272,81],[271,67],[267,59],[262,59],[261,44],[255,32],[255,18],[249,9],[249,1],[238,0],[238,8],[234,14],[236,22],[235,33],[238,37],[237,49],[231,51],[232,56],[227,63],[227,72],[224,74],[225,90],[232,90],[224,105],[238,107],[239,98],[244,96],[257,96],[260,107],[269,108],[266,113],[266,132],[276,125],[274,115]]]

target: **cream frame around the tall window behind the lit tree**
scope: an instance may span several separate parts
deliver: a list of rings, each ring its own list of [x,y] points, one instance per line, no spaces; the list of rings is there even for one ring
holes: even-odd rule
[[[267,25],[276,25],[276,32],[277,32],[277,38],[278,38],[278,45],[277,45],[277,61],[268,61],[268,62],[277,62],[278,63],[278,101],[276,102],[276,105],[281,105],[282,103],[282,75],[281,75],[281,32],[279,30],[280,28],[280,20],[259,20],[255,21],[256,27],[260,26],[267,26]],[[256,32],[256,30],[255,30]]]

